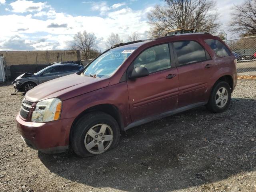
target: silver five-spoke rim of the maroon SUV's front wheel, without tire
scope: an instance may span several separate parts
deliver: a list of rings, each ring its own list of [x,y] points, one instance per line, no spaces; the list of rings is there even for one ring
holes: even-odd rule
[[[84,146],[92,154],[101,154],[110,148],[113,130],[107,124],[97,124],[90,128],[84,138]]]

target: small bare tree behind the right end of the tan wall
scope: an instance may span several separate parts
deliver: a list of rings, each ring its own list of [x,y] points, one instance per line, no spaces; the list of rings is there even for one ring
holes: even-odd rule
[[[72,49],[78,49],[81,52],[83,59],[91,59],[95,57],[96,51],[96,36],[94,33],[87,31],[78,32],[74,35]]]

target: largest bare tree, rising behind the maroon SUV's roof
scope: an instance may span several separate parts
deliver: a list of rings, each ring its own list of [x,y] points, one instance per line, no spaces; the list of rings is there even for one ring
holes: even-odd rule
[[[152,25],[152,37],[163,36],[169,30],[179,28],[214,33],[219,27],[218,14],[213,0],[164,0],[148,13]]]

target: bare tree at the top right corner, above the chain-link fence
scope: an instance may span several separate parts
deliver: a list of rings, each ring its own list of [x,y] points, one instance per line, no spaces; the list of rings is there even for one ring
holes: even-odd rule
[[[245,0],[232,8],[230,31],[241,36],[256,35],[256,0]]]

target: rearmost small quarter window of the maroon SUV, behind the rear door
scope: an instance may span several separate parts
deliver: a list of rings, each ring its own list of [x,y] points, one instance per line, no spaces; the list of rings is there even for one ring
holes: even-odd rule
[[[212,50],[218,55],[219,57],[226,57],[231,55],[228,48],[219,40],[215,39],[206,39],[204,40],[211,48]]]

